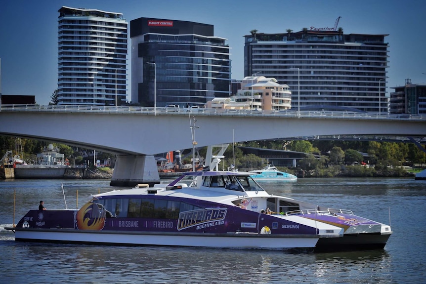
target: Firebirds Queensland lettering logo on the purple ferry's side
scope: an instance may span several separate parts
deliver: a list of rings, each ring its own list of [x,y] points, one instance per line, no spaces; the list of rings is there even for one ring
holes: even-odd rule
[[[223,225],[227,212],[227,208],[205,208],[180,212],[177,220],[177,230],[180,231],[194,226],[198,230]]]

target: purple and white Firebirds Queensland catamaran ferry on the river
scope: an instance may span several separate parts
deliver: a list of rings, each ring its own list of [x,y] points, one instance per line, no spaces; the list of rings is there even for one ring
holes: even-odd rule
[[[269,195],[238,171],[186,172],[94,195],[78,210],[30,210],[5,229],[16,241],[312,250],[383,248],[392,233],[352,211]]]

